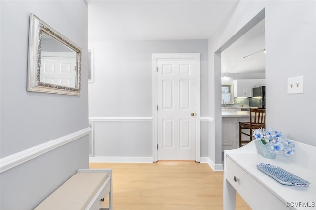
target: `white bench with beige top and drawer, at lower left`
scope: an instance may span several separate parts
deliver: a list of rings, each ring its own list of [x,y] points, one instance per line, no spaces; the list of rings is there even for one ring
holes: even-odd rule
[[[109,196],[109,207],[101,207]],[[112,210],[112,169],[79,169],[35,210]]]

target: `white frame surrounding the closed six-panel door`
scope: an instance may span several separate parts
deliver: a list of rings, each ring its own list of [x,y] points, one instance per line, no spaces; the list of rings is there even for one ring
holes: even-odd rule
[[[153,162],[157,162],[157,59],[160,58],[193,58],[196,63],[196,155],[195,161],[201,159],[200,134],[200,54],[199,53],[153,53],[152,54],[152,107],[153,107]]]

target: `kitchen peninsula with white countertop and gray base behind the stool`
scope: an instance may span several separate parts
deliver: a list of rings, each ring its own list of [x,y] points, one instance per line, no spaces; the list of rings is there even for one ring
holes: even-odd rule
[[[239,122],[249,122],[249,111],[222,111],[222,151],[239,148]]]

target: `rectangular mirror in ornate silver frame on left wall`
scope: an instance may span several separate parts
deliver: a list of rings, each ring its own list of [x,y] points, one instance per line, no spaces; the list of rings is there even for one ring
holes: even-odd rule
[[[81,50],[31,14],[27,90],[80,95]]]

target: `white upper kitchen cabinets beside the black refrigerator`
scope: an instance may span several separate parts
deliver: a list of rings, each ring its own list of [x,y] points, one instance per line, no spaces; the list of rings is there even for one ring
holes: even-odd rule
[[[233,82],[234,97],[252,97],[252,88],[265,85],[265,79],[237,79]]]

